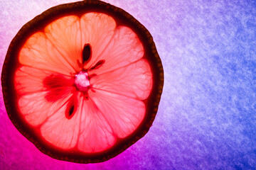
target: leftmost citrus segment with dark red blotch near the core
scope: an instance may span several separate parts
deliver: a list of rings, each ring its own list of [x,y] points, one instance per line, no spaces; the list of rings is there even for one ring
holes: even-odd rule
[[[48,91],[48,101],[57,101],[75,90],[74,81],[73,77],[63,74],[23,66],[16,71],[15,85],[21,96]]]

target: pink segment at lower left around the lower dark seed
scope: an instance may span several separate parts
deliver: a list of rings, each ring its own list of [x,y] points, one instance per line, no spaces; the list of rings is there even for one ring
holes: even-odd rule
[[[42,136],[56,147],[71,149],[78,142],[83,97],[80,92],[77,97],[78,109],[73,113],[73,118],[65,118],[65,110],[68,107],[68,103],[65,103],[41,126]]]

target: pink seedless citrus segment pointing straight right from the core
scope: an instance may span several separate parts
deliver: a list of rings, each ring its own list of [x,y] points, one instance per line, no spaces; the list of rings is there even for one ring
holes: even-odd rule
[[[152,89],[152,73],[146,60],[141,59],[125,67],[92,77],[90,83],[95,89],[144,100]]]

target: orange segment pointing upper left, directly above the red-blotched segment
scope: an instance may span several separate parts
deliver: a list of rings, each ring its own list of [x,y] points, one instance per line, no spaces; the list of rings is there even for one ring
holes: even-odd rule
[[[18,56],[21,64],[60,74],[70,75],[75,70],[65,61],[63,55],[46,38],[44,33],[35,33],[23,45]]]

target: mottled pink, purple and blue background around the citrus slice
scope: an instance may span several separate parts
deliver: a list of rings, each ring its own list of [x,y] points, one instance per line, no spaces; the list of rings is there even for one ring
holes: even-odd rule
[[[0,63],[18,30],[68,0],[1,0]],[[164,91],[149,132],[100,164],[42,154],[9,120],[0,97],[0,169],[255,169],[256,2],[106,0],[151,33]]]

